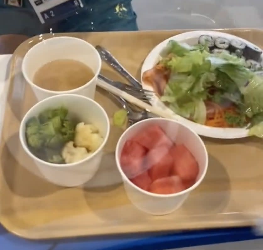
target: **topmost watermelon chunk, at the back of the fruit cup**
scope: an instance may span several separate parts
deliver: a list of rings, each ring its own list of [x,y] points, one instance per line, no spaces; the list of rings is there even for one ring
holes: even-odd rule
[[[151,125],[134,136],[133,140],[147,149],[165,145],[172,147],[173,142],[168,138],[159,125]]]

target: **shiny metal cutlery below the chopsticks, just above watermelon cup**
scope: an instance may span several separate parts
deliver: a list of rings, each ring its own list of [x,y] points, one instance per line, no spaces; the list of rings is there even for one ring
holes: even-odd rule
[[[158,115],[148,112],[146,110],[135,111],[130,105],[130,103],[128,103],[122,97],[116,96],[112,93],[110,93],[110,95],[112,95],[112,97],[114,97],[122,105],[122,107],[127,111],[127,116],[128,116],[128,121],[129,121],[130,126],[144,119],[159,117]]]

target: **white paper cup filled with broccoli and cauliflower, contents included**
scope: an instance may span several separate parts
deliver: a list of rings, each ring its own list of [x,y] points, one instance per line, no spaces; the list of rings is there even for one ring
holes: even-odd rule
[[[110,131],[105,110],[74,94],[52,96],[25,114],[19,139],[42,175],[59,186],[79,186],[100,166]]]

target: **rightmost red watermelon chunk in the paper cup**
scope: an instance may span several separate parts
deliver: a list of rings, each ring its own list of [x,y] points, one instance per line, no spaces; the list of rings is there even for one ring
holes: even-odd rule
[[[178,175],[183,181],[195,181],[199,173],[198,163],[191,152],[183,145],[177,145],[170,150],[174,158],[172,175]]]

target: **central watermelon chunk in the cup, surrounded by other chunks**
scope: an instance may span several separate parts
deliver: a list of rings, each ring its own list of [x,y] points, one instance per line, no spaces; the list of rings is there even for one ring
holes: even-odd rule
[[[173,168],[173,157],[167,146],[159,146],[151,149],[146,155],[146,167],[152,181],[167,177]]]

